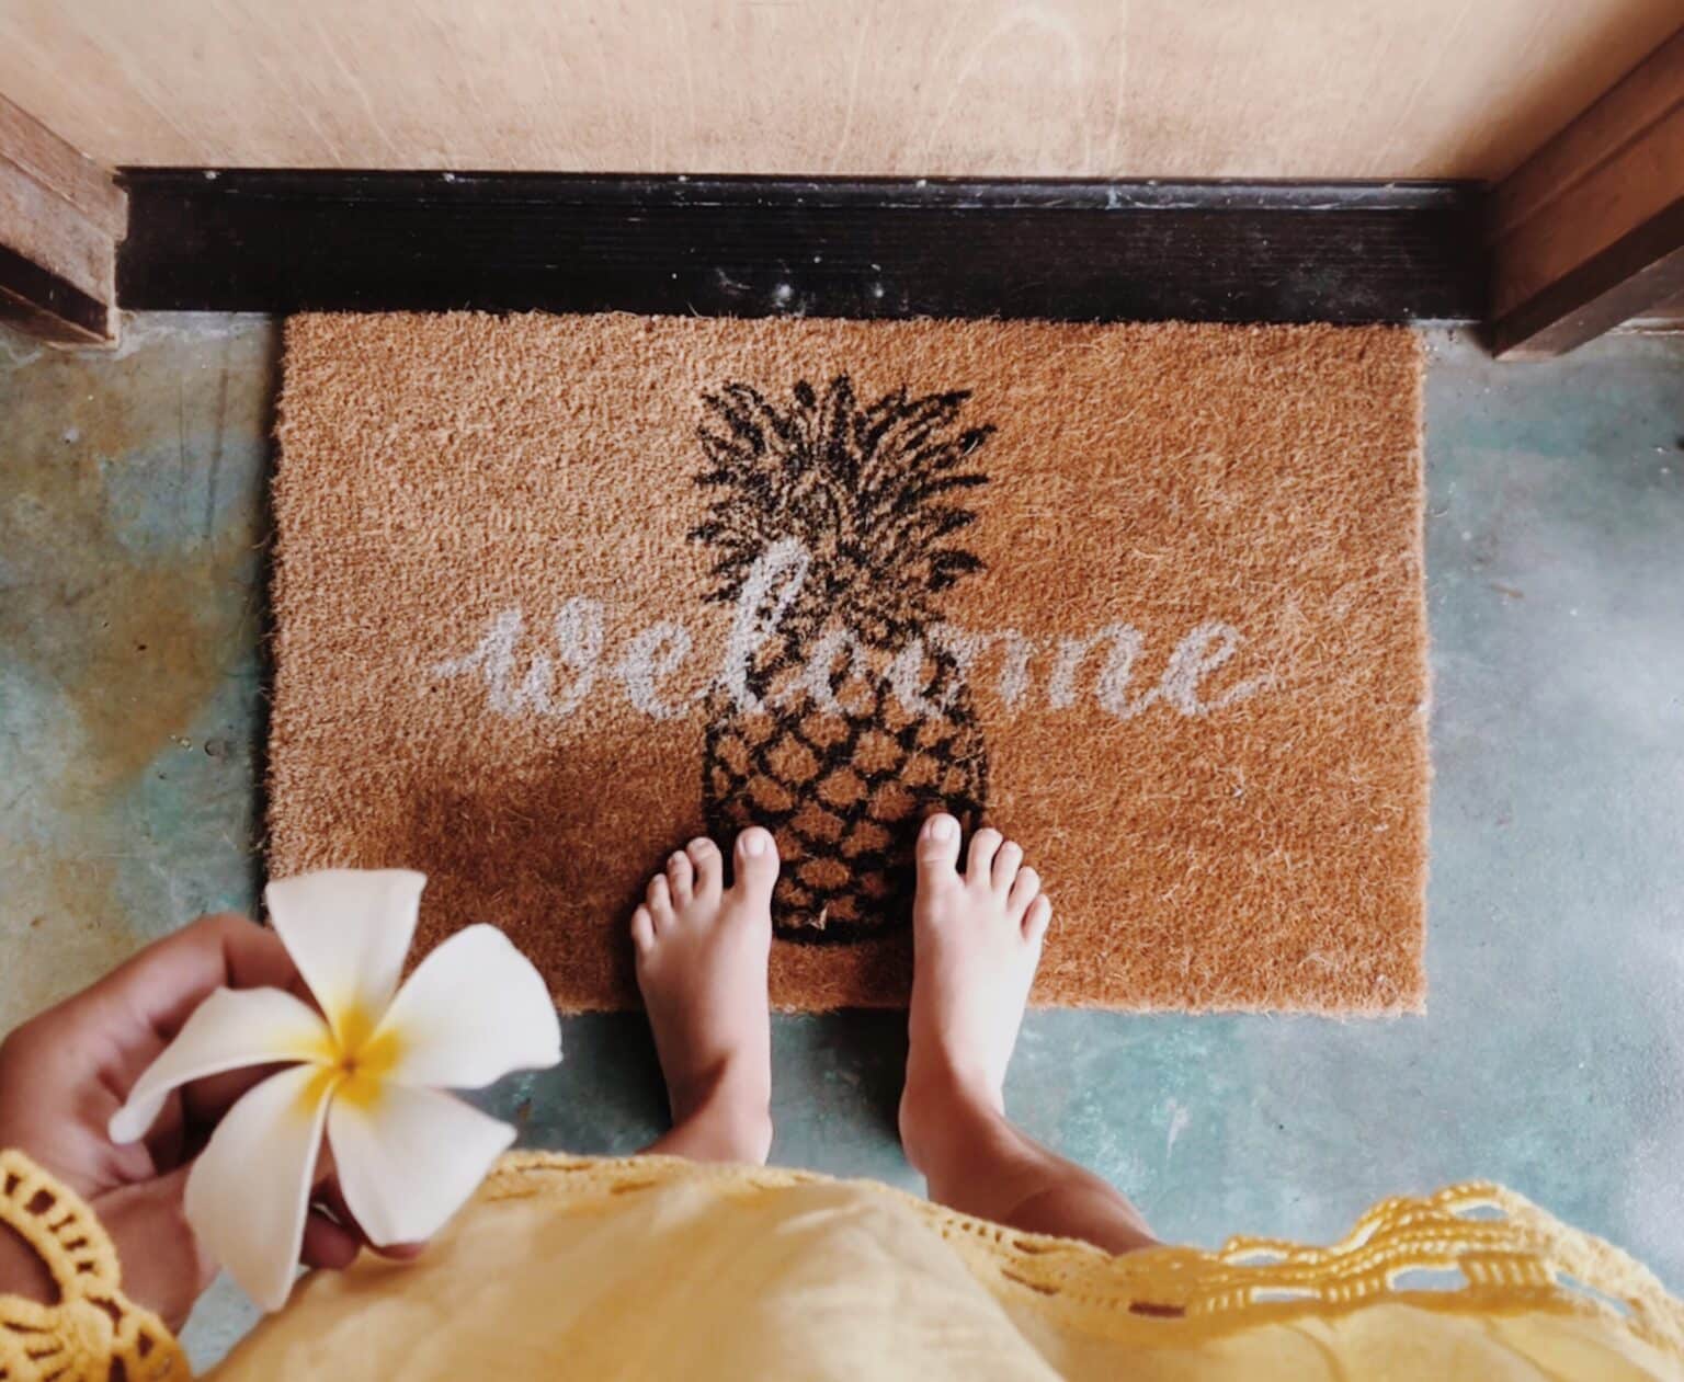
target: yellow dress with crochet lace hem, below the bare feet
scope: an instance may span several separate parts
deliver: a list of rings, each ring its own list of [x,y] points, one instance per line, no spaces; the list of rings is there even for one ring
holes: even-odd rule
[[[0,1379],[49,1375],[15,1370],[7,1320]],[[162,1350],[130,1377],[184,1377]],[[1490,1185],[1386,1200],[1325,1249],[1111,1257],[862,1182],[514,1155],[421,1261],[313,1274],[214,1377],[1684,1379],[1684,1306]]]

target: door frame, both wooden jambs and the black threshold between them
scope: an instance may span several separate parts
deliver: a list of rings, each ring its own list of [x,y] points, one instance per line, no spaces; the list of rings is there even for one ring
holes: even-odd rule
[[[0,98],[0,320],[131,310],[1484,322],[1684,293],[1684,29],[1494,187],[99,168]]]

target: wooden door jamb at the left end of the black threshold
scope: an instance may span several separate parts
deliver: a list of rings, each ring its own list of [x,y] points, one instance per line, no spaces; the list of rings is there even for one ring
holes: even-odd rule
[[[0,320],[54,345],[116,342],[113,175],[0,98]]]

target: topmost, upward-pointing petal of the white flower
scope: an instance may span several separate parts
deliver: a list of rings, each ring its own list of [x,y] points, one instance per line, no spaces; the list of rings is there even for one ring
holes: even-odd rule
[[[269,921],[340,1042],[367,1037],[397,991],[424,885],[409,869],[323,869],[264,889]]]

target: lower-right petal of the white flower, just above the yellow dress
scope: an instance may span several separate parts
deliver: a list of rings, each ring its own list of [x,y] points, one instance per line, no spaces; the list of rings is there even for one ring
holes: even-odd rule
[[[450,1094],[386,1082],[333,1099],[327,1140],[345,1204],[379,1247],[433,1237],[515,1140]]]

